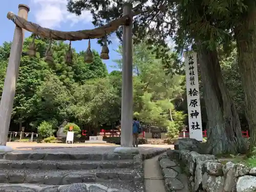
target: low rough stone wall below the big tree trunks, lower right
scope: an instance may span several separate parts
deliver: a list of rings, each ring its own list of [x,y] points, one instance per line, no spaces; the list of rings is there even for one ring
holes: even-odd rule
[[[190,191],[255,192],[256,167],[221,162],[214,155],[189,150],[168,150],[167,157],[177,160],[189,178]]]

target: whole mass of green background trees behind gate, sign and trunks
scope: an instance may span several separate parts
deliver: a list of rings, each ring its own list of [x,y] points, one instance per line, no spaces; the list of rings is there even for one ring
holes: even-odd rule
[[[24,51],[30,42],[30,37],[25,40]],[[48,65],[42,60],[48,43],[48,40],[38,38],[37,57],[22,56],[12,122],[22,123],[26,130],[42,132],[44,138],[52,136],[64,119],[95,131],[101,126],[118,124],[121,118],[122,59],[116,61],[117,70],[107,74],[98,53],[94,51],[95,60],[89,65],[83,62],[83,52],[73,50],[74,63],[70,66],[65,63],[68,45],[54,41],[55,62]],[[10,45],[6,42],[0,47],[0,92],[4,85]],[[117,52],[122,54],[120,48]],[[176,55],[176,52],[167,54]],[[229,57],[221,57],[221,63],[225,80],[233,93],[232,98],[243,109],[241,81],[235,68],[236,52]],[[175,71],[175,65],[176,57],[166,69],[165,63],[157,59],[157,54],[152,53],[145,43],[134,47],[134,114],[144,124],[166,127],[169,137],[177,136],[186,122],[184,76],[166,73],[168,69]],[[178,66],[182,65],[180,62]],[[12,126],[10,129],[13,129]],[[80,134],[81,131],[77,135]]]

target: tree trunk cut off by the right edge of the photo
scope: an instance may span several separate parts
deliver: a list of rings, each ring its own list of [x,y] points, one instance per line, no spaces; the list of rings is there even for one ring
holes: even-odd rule
[[[245,94],[245,113],[250,130],[250,147],[256,146],[256,7],[248,8],[247,14],[235,28],[238,63]]]

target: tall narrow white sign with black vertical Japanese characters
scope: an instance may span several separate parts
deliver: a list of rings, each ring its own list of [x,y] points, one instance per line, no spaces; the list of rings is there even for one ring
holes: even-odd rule
[[[203,130],[200,108],[200,93],[198,84],[197,53],[184,53],[186,68],[187,112],[189,123],[189,138],[203,141]],[[213,73],[213,72],[212,72]]]

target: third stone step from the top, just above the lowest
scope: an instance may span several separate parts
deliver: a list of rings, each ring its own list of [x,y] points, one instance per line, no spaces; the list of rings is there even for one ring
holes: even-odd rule
[[[0,183],[68,185],[72,183],[132,183],[136,173],[128,168],[91,170],[1,169]]]

